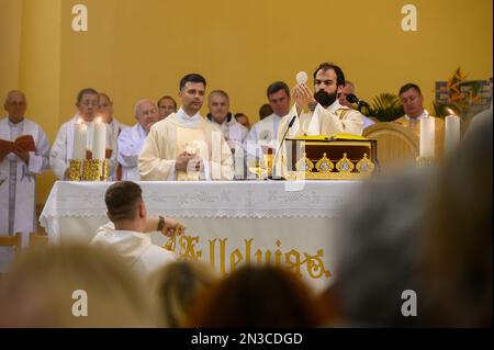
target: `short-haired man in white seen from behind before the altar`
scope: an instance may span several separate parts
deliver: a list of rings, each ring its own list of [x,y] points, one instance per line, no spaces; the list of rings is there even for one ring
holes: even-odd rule
[[[104,194],[104,202],[115,229],[98,233],[92,245],[116,251],[141,276],[177,260],[173,252],[154,245],[146,233],[147,212],[137,183],[113,183]]]

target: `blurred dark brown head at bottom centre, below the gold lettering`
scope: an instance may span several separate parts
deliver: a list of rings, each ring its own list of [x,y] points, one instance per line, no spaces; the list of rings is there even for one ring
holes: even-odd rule
[[[212,287],[192,313],[192,327],[316,327],[319,312],[295,274],[244,266]]]

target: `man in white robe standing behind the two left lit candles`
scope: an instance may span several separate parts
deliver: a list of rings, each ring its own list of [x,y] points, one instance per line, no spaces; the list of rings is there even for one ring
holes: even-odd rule
[[[77,113],[64,123],[58,131],[57,137],[52,146],[49,154],[49,166],[55,176],[60,180],[68,180],[69,160],[72,159],[74,136],[76,123],[85,123],[87,132],[87,150],[92,150],[92,135],[94,132],[96,115],[99,109],[99,94],[94,89],[83,89],[77,94]],[[102,122],[102,121],[101,121]],[[110,178],[114,176],[116,163],[116,151],[112,149],[112,135],[110,128],[106,128],[106,158],[110,162]]]

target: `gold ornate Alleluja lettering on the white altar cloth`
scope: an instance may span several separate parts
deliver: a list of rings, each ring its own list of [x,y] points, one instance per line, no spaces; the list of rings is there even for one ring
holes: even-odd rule
[[[202,251],[198,249],[200,242],[198,236],[181,235],[173,238],[173,251],[182,259],[199,260],[202,257]],[[210,264],[215,268],[222,275],[227,274],[227,271],[233,272],[243,263],[262,264],[272,263],[278,267],[287,268],[302,278],[302,272],[305,270],[307,275],[313,280],[329,278],[330,271],[324,266],[324,250],[318,249],[315,255],[308,252],[299,252],[295,249],[282,251],[281,241],[278,239],[274,251],[270,249],[252,250],[254,238],[244,239],[243,247],[237,247],[229,255],[226,252],[228,238],[212,238],[207,239],[210,250]],[[176,244],[175,244],[176,242]],[[218,257],[218,261],[216,259]],[[218,263],[218,266],[217,266]],[[228,269],[227,269],[228,268]]]

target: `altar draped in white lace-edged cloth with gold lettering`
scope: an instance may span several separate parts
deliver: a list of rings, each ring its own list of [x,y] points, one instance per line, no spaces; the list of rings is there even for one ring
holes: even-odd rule
[[[106,223],[112,182],[57,181],[40,216],[53,245],[89,242]],[[321,291],[334,279],[334,238],[361,181],[139,182],[148,215],[179,219],[176,253],[226,274],[244,263],[273,263]],[[153,233],[157,245],[167,237]]]

